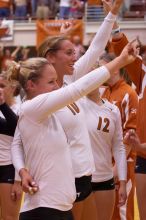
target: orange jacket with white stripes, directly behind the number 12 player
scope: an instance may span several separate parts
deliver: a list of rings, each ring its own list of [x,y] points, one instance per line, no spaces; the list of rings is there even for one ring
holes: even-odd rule
[[[124,134],[129,129],[136,129],[138,96],[131,86],[121,79],[112,87],[108,87],[102,97],[119,108]],[[133,154],[132,151],[128,157],[133,156],[135,156],[135,154]]]

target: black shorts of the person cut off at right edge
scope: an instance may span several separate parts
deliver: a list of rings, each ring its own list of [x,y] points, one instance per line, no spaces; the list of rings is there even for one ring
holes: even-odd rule
[[[140,156],[136,158],[135,173],[146,174],[146,159]]]

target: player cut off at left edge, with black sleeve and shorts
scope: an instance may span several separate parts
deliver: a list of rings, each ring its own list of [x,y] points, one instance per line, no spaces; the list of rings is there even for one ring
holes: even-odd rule
[[[0,217],[16,220],[19,216],[22,189],[20,181],[15,181],[11,143],[18,120],[14,112],[17,113],[18,106],[14,100],[16,85],[9,83],[6,78],[5,73],[0,75]]]

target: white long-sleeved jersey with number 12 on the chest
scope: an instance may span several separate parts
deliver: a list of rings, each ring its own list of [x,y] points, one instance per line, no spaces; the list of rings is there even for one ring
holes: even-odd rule
[[[112,156],[114,156],[119,180],[127,178],[126,151],[119,109],[104,100],[103,105],[83,99],[86,122],[90,135],[96,171],[93,182],[107,181],[113,177]]]

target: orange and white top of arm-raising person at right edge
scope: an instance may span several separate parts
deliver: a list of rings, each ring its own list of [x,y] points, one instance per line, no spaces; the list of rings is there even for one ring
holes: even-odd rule
[[[119,55],[128,43],[126,36],[123,34],[123,37],[120,40],[112,41],[112,47],[116,55]],[[146,143],[146,72],[142,64],[142,59],[137,57],[136,60],[126,66],[126,71],[136,86],[137,94],[139,95],[139,109],[137,115],[137,133],[140,138],[141,143]],[[138,153],[139,154],[139,153]],[[140,156],[144,156],[142,153]]]

